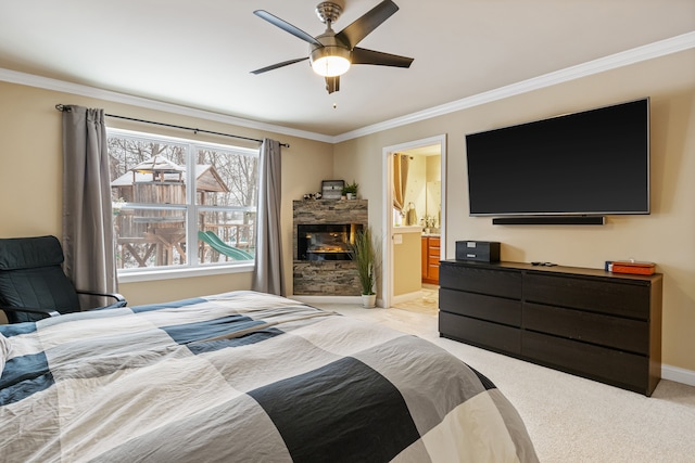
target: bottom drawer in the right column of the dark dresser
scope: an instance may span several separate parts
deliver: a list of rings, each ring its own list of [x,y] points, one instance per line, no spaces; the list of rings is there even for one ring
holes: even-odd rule
[[[649,360],[643,356],[533,332],[523,332],[521,353],[568,373],[652,394]]]

